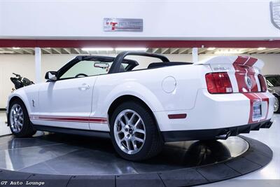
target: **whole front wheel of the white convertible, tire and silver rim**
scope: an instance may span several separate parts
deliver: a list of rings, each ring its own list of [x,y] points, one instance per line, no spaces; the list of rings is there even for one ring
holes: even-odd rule
[[[20,100],[13,101],[9,106],[8,125],[16,137],[31,137],[36,133],[29,120],[25,104]]]

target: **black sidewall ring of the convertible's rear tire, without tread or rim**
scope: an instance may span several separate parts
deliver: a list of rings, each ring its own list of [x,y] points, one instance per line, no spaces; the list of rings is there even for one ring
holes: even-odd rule
[[[138,153],[129,155],[125,152],[123,152],[118,144],[116,143],[116,138],[114,134],[114,125],[115,125],[115,120],[118,114],[121,111],[124,111],[125,109],[130,109],[139,114],[141,116],[144,125],[145,125],[145,130],[146,130],[146,139],[144,142],[143,147]],[[113,142],[113,146],[115,150],[118,152],[119,155],[121,155],[123,158],[127,160],[141,160],[141,158],[144,158],[146,153],[150,150],[151,148],[151,141],[153,141],[153,133],[155,130],[158,130],[155,124],[155,120],[153,119],[153,116],[151,116],[151,113],[149,113],[144,106],[141,104],[138,104],[137,102],[125,102],[123,104],[120,104],[120,106],[117,107],[117,109],[113,112],[113,115],[111,116],[110,120],[110,134],[111,134],[111,139]]]

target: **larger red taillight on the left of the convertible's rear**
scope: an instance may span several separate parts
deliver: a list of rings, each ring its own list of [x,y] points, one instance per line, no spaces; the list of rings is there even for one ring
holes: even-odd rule
[[[230,83],[228,73],[210,73],[206,74],[205,78],[209,93],[232,93],[232,83]]]

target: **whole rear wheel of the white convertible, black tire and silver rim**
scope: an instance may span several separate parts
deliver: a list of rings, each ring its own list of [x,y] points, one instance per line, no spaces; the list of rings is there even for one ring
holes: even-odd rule
[[[153,114],[138,102],[125,102],[115,109],[110,132],[117,153],[127,160],[145,160],[162,149],[162,137]]]

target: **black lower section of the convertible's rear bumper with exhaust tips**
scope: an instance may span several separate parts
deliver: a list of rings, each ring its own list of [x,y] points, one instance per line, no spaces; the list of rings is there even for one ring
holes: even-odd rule
[[[162,137],[165,142],[189,141],[189,140],[207,140],[207,139],[227,139],[230,136],[237,136],[241,133],[249,133],[251,130],[260,130],[260,128],[269,128],[272,121],[265,120],[259,123],[240,125],[235,127],[225,127],[218,129],[204,130],[176,130],[164,131]]]

